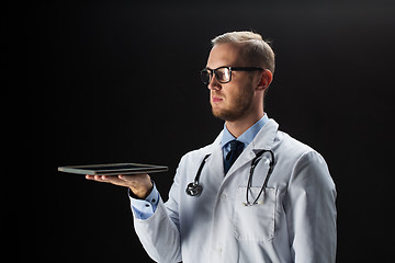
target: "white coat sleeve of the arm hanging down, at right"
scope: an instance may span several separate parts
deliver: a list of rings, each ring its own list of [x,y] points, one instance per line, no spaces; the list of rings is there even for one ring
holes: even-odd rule
[[[294,262],[335,262],[336,188],[318,152],[309,151],[297,160],[284,206]]]

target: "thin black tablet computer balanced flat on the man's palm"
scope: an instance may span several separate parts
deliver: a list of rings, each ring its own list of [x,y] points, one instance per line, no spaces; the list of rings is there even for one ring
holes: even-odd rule
[[[67,165],[58,167],[58,171],[89,175],[120,175],[166,172],[168,167],[142,164],[142,163],[108,163],[90,165]]]

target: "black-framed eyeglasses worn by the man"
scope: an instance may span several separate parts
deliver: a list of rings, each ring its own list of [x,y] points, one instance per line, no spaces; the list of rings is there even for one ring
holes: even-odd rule
[[[204,68],[201,71],[202,81],[204,84],[210,84],[215,75],[219,83],[228,83],[232,80],[232,71],[256,71],[263,70],[257,67],[219,67],[216,69]]]

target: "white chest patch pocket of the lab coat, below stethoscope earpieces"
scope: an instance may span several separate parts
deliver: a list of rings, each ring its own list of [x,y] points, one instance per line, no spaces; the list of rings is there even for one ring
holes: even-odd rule
[[[253,202],[259,195],[261,187],[251,187],[248,199]],[[234,231],[240,241],[266,242],[273,239],[275,220],[276,188],[266,187],[257,204],[246,206],[247,187],[238,187]]]

